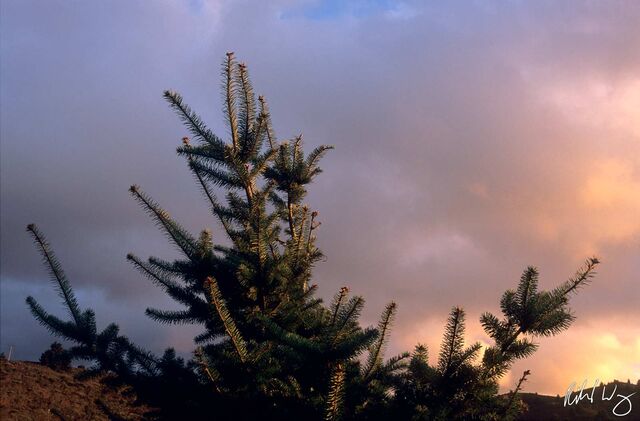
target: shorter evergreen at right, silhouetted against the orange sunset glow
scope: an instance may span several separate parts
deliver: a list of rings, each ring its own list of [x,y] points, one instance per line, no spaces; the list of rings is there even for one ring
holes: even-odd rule
[[[475,360],[481,346],[464,347],[465,314],[454,307],[437,365],[429,365],[425,347],[416,347],[392,411],[416,419],[514,419],[522,410],[517,394],[530,372],[525,371],[506,398],[498,396],[498,380],[515,361],[535,352],[535,337],[556,335],[569,327],[574,320],[569,298],[589,283],[598,263],[596,258],[588,259],[573,277],[551,291],[538,291],[538,270],[527,268],[518,288],[502,296],[504,318],[491,313],[480,317],[494,344],[484,350],[479,362]]]

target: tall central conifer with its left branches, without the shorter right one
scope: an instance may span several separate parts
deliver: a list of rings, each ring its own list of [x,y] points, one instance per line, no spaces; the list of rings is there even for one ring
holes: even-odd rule
[[[332,147],[305,155],[301,136],[278,141],[266,101],[256,101],[247,68],[232,53],[222,79],[229,141],[208,129],[179,94],[167,91],[164,97],[191,134],[178,154],[186,158],[230,245],[214,244],[209,231],[192,236],[140,187],[130,188],[182,254],[174,261],[127,256],[184,307],[147,308],[146,314],[160,323],[200,325],[193,360],[185,365],[171,349],[162,358],[152,356],[119,335],[115,325],[98,333],[94,313],[80,309],[33,225],[29,231],[71,319],[48,314],[29,297],[31,311],[54,334],[76,344],[74,357],[93,360],[95,371],[114,371],[139,385],[164,416],[189,411],[191,417],[209,417],[215,410],[222,418],[338,419],[348,413],[345,402],[366,406],[386,399],[387,377],[401,368],[398,358],[383,364],[395,304],[385,310],[379,329],[362,328],[361,297],[349,297],[343,288],[325,307],[314,298],[317,286],[310,282],[322,257],[315,245],[320,223],[304,200],[307,185],[321,173],[320,158]],[[358,358],[365,353],[369,356],[361,365]],[[350,392],[367,388],[376,392],[370,399]],[[173,404],[185,391],[191,395],[188,407]]]

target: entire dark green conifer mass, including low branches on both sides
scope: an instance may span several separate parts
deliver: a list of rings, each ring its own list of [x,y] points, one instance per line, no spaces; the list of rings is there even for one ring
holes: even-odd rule
[[[139,186],[130,188],[181,254],[173,261],[127,255],[183,306],[147,308],[146,314],[160,323],[200,326],[192,358],[185,362],[171,348],[154,356],[120,335],[115,324],[98,332],[94,312],[80,308],[49,244],[29,225],[69,313],[69,320],[61,320],[29,297],[36,319],[74,343],[73,358],[93,361],[90,372],[118,374],[165,419],[513,417],[525,377],[506,400],[497,396],[497,379],[535,351],[532,337],[569,326],[569,296],[589,281],[597,260],[549,292],[538,292],[537,270],[527,269],[518,289],[503,295],[504,319],[482,315],[495,345],[480,363],[480,344],[464,345],[465,313],[458,307],[449,316],[437,364],[430,365],[422,345],[385,360],[395,303],[387,305],[377,327],[365,328],[359,323],[364,299],[350,296],[348,288],[328,306],[314,296],[320,222],[305,198],[321,173],[319,160],[332,147],[305,155],[302,136],[277,140],[265,99],[256,101],[247,68],[233,53],[222,66],[222,87],[228,141],[178,93],[166,91],[164,98],[191,136],[177,153],[229,245],[216,243],[208,230],[192,235]]]

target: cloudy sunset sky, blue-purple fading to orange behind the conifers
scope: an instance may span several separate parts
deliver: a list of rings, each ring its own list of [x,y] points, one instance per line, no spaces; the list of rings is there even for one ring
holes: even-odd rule
[[[177,256],[128,194],[139,184],[192,232],[221,227],[175,147],[162,99],[223,137],[220,66],[234,51],[276,134],[332,144],[311,186],[326,255],[314,282],[394,300],[388,355],[437,355],[452,306],[478,322],[533,265],[540,286],[602,261],[574,325],[502,379],[563,394],[640,378],[640,3],[632,1],[4,0],[0,3],[0,347],[53,341],[24,302],[64,314],[25,231],[46,233],[81,305],[148,349],[192,349],[157,325],[175,305],[128,252]]]

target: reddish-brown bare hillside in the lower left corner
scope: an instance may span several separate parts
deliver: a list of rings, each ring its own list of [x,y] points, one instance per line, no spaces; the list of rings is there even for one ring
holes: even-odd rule
[[[0,359],[0,419],[144,420],[148,408],[102,378],[79,380],[83,370],[58,372],[39,363]]]

